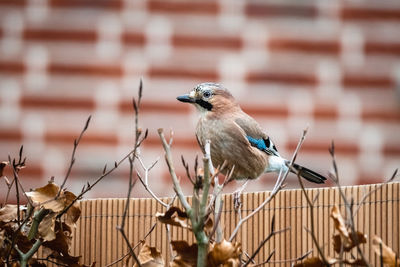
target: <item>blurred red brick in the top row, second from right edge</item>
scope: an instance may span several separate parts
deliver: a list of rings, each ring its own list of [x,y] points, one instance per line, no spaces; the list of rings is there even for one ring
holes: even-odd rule
[[[315,17],[318,11],[314,5],[279,5],[264,3],[248,3],[246,15],[250,17],[271,17],[271,16],[294,16],[294,17]]]

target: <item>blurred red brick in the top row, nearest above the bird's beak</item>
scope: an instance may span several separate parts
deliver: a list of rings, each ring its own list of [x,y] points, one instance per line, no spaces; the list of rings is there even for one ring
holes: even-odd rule
[[[217,15],[219,6],[217,1],[163,1],[148,0],[147,8],[151,12],[207,14]]]

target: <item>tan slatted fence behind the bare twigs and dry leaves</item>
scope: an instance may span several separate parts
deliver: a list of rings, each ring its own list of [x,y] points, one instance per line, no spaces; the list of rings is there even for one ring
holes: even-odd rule
[[[354,199],[354,207],[356,207],[363,196],[377,186],[343,187],[343,192],[349,201],[351,197]],[[241,195],[242,217],[257,208],[269,194],[269,192],[260,192]],[[330,218],[330,211],[334,205],[338,205],[342,215],[345,216],[344,202],[339,190],[337,188],[309,189],[307,194],[311,200],[317,194],[319,195],[313,209],[316,236],[325,254],[335,256],[332,236],[337,231]],[[223,200],[221,223],[225,238],[228,238],[239,221],[239,216],[235,213],[233,196],[224,195]],[[98,199],[80,202],[82,215],[73,233],[71,249],[73,255],[81,255],[82,262],[85,264],[96,261],[96,265],[105,266],[127,253],[127,246],[116,229],[116,226],[121,223],[125,201],[125,199]],[[400,183],[384,185],[365,199],[365,203],[362,203],[355,217],[356,229],[368,236],[368,243],[362,248],[366,258],[374,266],[379,263],[371,246],[371,238],[374,235],[379,235],[393,251],[399,253],[399,202]],[[156,211],[165,212],[165,208],[153,199],[130,200],[125,229],[132,244],[137,244],[156,222],[154,217]],[[235,241],[241,242],[243,250],[251,255],[270,233],[274,215],[276,230],[286,227],[290,227],[290,230],[275,236],[265,244],[256,257],[256,262],[265,260],[274,249],[275,255],[272,261],[296,258],[311,249],[313,249],[313,256],[318,256],[311,236],[305,230],[305,228],[311,229],[311,218],[310,208],[301,190],[279,192],[259,214],[243,224]],[[190,244],[194,241],[191,232],[177,227],[171,227],[171,235],[172,240],[184,239]],[[147,244],[156,246],[164,254],[164,259],[169,260],[167,240],[166,229],[164,225],[159,224],[145,241]],[[136,251],[138,252],[139,249]],[[42,255],[40,253],[39,255]],[[114,266],[122,266],[123,263],[121,261]],[[130,260],[129,264],[132,265],[133,261]],[[275,266],[287,266],[287,263],[277,263]]]

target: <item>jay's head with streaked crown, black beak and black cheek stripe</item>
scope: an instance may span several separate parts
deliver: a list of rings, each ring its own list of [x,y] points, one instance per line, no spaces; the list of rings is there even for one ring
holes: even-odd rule
[[[194,104],[202,113],[223,112],[238,106],[227,89],[220,84],[210,82],[201,83],[189,94],[178,96],[176,99]]]

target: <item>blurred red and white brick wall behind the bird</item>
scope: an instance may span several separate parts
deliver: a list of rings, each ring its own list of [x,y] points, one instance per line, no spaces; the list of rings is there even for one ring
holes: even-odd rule
[[[180,157],[191,166],[201,158],[197,115],[176,96],[205,81],[229,88],[287,158],[308,126],[298,162],[325,175],[334,140],[343,185],[381,182],[400,166],[395,0],[1,0],[0,160],[24,145],[25,189],[51,176],[61,183],[91,114],[67,182],[80,192],[131,150],[140,77],[140,126],[149,129],[141,157],[146,165],[160,158],[149,176],[159,196],[173,190],[158,128],[174,132],[175,165],[191,194]],[[125,197],[128,173],[123,164],[87,197]],[[270,190],[275,179],[247,190]],[[6,189],[0,181],[0,201]],[[137,183],[132,196],[149,194]]]

